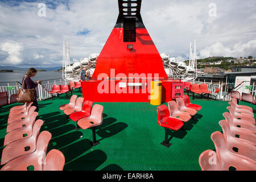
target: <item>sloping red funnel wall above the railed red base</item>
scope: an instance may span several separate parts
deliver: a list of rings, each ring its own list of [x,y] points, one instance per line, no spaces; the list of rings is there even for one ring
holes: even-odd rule
[[[135,77],[151,77],[148,74],[159,74],[160,78],[167,78],[163,61],[155,44],[152,42],[146,28],[137,28],[135,43],[123,42],[123,28],[114,28],[109,36],[100,56],[92,77],[105,73],[110,78],[134,77],[129,74],[137,73]],[[133,44],[133,49],[127,45]],[[110,69],[115,73],[110,74]],[[143,74],[144,73],[144,74]]]

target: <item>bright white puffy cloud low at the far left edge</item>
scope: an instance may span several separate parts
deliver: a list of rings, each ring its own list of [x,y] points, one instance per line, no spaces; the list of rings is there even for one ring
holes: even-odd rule
[[[6,42],[2,44],[1,49],[8,54],[7,58],[2,61],[2,64],[18,65],[22,63],[22,44],[17,42]]]

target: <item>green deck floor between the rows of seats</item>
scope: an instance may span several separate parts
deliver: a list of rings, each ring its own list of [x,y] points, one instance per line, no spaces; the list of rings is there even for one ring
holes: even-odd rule
[[[81,97],[79,91],[74,92]],[[48,150],[53,148],[65,156],[64,171],[80,170],[125,170],[125,171],[195,171],[201,170],[199,155],[212,149],[210,134],[222,131],[218,122],[224,119],[228,102],[207,100],[197,97],[191,102],[203,108],[195,120],[185,123],[185,131],[170,131],[169,148],[160,143],[164,140],[164,129],[157,122],[156,107],[150,103],[94,103],[104,106],[104,120],[96,129],[100,144],[90,145],[92,130],[75,130],[76,123],[66,119],[59,106],[67,104],[65,94],[55,100],[39,102],[39,117],[44,125],[40,131],[49,131],[52,139]],[[167,105],[167,103],[165,103]],[[241,105],[256,106],[246,102]],[[9,110],[13,104],[0,110],[0,155]],[[82,138],[80,138],[83,136]],[[0,166],[2,168],[2,166]]]

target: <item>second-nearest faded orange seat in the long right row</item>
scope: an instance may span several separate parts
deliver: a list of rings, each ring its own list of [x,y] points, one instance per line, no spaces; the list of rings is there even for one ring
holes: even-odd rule
[[[226,141],[224,135],[220,131],[212,133],[210,138],[213,140],[216,154],[221,164],[221,171],[229,171],[236,169],[237,171],[255,171],[256,164],[247,160],[241,155],[229,152],[226,149]]]

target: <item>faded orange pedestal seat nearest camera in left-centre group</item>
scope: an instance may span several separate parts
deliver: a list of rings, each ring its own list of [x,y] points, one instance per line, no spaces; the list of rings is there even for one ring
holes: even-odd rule
[[[81,129],[89,129],[91,128],[93,131],[93,141],[92,141],[92,146],[96,146],[100,142],[96,140],[96,126],[100,126],[102,124],[103,120],[103,109],[104,107],[102,105],[94,105],[92,107],[92,113],[90,114],[89,117],[79,119],[77,121],[77,125],[81,127]]]

